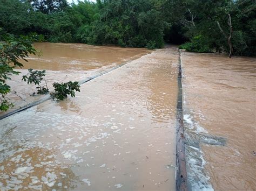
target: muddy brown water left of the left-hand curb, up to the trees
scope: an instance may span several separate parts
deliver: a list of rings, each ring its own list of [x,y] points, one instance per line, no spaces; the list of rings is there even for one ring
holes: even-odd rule
[[[52,83],[82,81],[100,72],[109,70],[121,63],[129,62],[148,54],[151,51],[145,48],[120,48],[112,46],[91,46],[85,44],[63,44],[63,43],[35,43],[36,55],[26,58],[28,62],[22,61],[23,69],[16,68],[19,75],[11,76],[8,84],[17,95],[9,94],[7,97],[15,107],[9,111],[16,110],[31,102],[38,101],[42,96],[33,96],[36,86],[21,81],[22,75],[28,73],[28,69],[46,70],[46,83],[50,91],[53,90]],[[45,82],[42,81],[42,86]],[[0,112],[3,115],[4,112]]]

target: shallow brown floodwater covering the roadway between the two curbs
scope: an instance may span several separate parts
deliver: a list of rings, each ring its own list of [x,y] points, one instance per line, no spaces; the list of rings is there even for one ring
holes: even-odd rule
[[[1,189],[175,190],[177,67],[157,50],[3,119]]]

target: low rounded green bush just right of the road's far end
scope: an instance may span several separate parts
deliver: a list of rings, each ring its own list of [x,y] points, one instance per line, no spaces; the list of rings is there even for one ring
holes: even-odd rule
[[[180,49],[186,49],[188,52],[212,52],[209,42],[201,35],[192,38],[191,42],[182,44]]]

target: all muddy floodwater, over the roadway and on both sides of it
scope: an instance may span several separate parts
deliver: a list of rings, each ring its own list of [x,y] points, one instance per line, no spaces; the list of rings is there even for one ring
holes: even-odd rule
[[[39,100],[21,81],[83,81],[76,97],[47,100],[1,120],[1,190],[175,190],[178,65],[188,189],[253,190],[256,59],[143,48],[35,44],[8,83],[15,110]],[[0,113],[3,115],[4,113]]]

